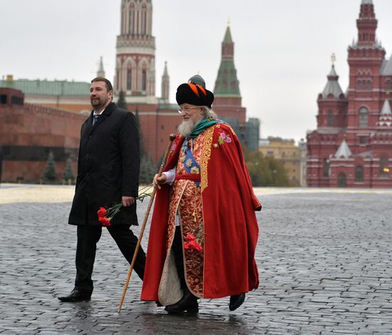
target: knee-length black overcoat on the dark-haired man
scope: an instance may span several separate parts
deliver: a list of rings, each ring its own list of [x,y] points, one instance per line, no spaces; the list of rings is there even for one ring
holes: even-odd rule
[[[133,113],[106,106],[93,126],[93,112],[81,128],[78,176],[68,224],[99,225],[98,209],[122,196],[138,196],[139,134]],[[122,207],[111,224],[137,225],[136,201]]]

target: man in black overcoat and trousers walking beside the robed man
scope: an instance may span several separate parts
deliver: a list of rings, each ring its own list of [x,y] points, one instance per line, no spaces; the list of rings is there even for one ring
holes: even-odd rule
[[[107,227],[118,248],[131,263],[138,239],[130,230],[138,225],[135,199],[139,186],[139,136],[133,113],[113,104],[113,86],[108,79],[91,81],[93,111],[81,128],[78,176],[68,224],[78,228],[75,287],[61,301],[91,299],[96,244],[102,233],[97,211],[123,202]],[[135,272],[143,280],[145,252],[139,249]]]

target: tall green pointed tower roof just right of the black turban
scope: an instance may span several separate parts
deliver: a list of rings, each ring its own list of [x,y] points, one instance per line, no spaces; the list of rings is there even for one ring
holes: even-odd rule
[[[214,95],[220,97],[240,98],[237,70],[234,65],[234,42],[229,26],[222,41],[222,59],[215,81]]]

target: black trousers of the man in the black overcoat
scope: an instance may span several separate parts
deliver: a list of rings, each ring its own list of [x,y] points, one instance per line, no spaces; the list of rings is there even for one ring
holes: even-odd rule
[[[110,235],[115,240],[118,248],[123,253],[128,263],[132,263],[133,253],[138,244],[138,238],[130,230],[130,226],[118,225],[107,227]],[[102,226],[78,226],[78,244],[76,246],[76,279],[75,289],[93,292],[94,261],[96,259],[97,243],[102,234]],[[145,252],[140,246],[138,256],[135,260],[134,270],[143,280],[145,267]]]

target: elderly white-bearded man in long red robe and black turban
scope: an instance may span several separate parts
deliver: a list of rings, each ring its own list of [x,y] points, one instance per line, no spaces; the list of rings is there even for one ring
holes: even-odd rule
[[[182,114],[158,186],[141,299],[170,313],[197,313],[199,298],[230,296],[229,309],[259,286],[254,251],[262,206],[241,145],[211,111],[200,76],[177,88]]]

